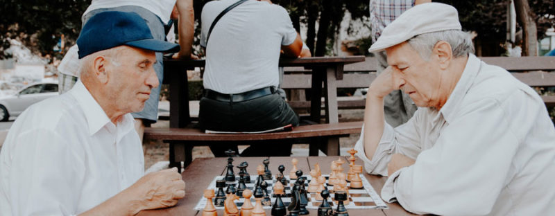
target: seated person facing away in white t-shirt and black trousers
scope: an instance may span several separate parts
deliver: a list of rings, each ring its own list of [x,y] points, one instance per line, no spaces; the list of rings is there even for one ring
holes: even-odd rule
[[[298,116],[278,94],[278,62],[283,55],[298,57],[302,40],[287,10],[268,1],[248,0],[212,22],[235,0],[210,1],[201,14],[200,45],[205,47],[205,92],[200,99],[200,127],[216,131],[253,132],[296,126]],[[210,147],[225,156],[229,145]],[[237,149],[235,145],[232,147]],[[289,143],[251,145],[242,155],[291,154]]]

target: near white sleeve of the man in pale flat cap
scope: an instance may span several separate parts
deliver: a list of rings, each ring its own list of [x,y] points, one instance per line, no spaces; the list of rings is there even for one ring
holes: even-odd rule
[[[465,107],[434,147],[388,178],[382,197],[396,199],[412,213],[487,215],[511,175],[518,149],[518,133],[507,119],[493,99]]]

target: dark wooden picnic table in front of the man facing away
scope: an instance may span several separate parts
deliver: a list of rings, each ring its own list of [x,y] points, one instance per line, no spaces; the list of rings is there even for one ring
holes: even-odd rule
[[[280,66],[302,66],[311,70],[310,118],[316,123],[321,119],[321,100],[324,93],[325,122],[339,123],[337,113],[336,80],[343,80],[343,66],[364,62],[362,55],[348,57],[304,57],[281,59]],[[189,93],[186,70],[205,66],[205,60],[164,60],[164,84],[170,88],[170,127],[186,127],[190,122]],[[323,91],[322,91],[323,90]]]

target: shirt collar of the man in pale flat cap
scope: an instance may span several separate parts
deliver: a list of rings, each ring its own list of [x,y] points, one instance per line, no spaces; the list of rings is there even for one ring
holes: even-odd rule
[[[449,122],[452,120],[455,109],[459,107],[459,103],[463,100],[464,96],[466,96],[466,93],[478,75],[480,64],[481,60],[474,54],[470,53],[468,55],[468,61],[466,62],[459,82],[456,83],[455,89],[453,89],[453,92],[449,98],[447,98],[445,105],[439,110],[443,118],[445,118],[445,121]]]

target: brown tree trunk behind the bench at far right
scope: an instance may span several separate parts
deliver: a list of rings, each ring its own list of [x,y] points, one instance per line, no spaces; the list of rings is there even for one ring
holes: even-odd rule
[[[522,56],[538,55],[538,30],[536,28],[536,15],[530,10],[528,0],[514,0],[516,17],[522,26]]]

